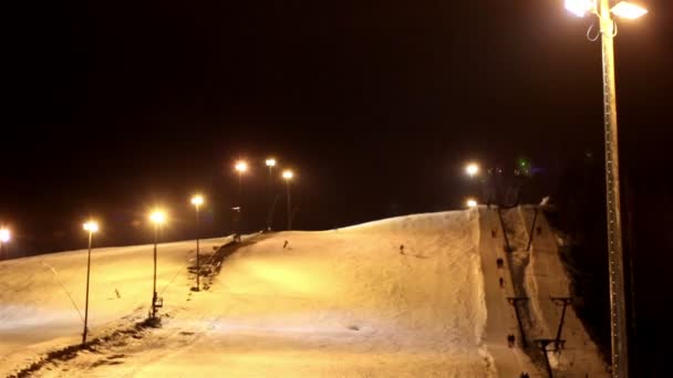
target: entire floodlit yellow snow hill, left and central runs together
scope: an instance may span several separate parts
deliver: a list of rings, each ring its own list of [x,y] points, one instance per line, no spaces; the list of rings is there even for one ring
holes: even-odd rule
[[[498,224],[474,209],[252,235],[200,292],[186,269],[194,243],[161,244],[161,328],[133,327],[151,302],[152,245],[95,250],[90,328],[103,342],[33,376],[542,377],[507,346],[517,323]],[[85,251],[0,262],[0,375],[79,343],[80,316],[48,266],[81,307],[85,264]]]

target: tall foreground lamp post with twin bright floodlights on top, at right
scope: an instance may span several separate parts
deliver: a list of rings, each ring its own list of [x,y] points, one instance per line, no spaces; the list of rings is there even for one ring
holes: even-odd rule
[[[612,14],[638,19],[648,11],[630,1],[566,0],[566,9],[578,17],[594,14],[600,22],[603,63],[603,127],[605,138],[605,186],[608,202],[608,260],[610,275],[610,328],[612,376],[629,376],[627,343],[627,306],[619,187],[619,150],[617,129],[617,90],[614,84],[614,42],[617,25]]]

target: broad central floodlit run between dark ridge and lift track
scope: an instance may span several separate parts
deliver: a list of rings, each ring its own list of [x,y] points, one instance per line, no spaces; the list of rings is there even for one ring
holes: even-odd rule
[[[189,342],[166,336],[162,348],[99,370],[488,377],[477,243],[474,212],[261,239],[227,260],[213,288],[157,333],[193,333],[183,337]]]

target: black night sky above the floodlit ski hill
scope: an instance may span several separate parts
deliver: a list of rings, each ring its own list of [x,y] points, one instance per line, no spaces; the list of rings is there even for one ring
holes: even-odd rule
[[[673,210],[673,3],[646,4],[615,45],[643,292],[673,263],[671,228],[650,210]],[[9,7],[0,221],[18,254],[84,246],[90,214],[103,244],[148,242],[155,203],[174,219],[166,238],[189,238],[197,189],[206,232],[225,234],[239,157],[253,164],[248,227],[263,222],[273,155],[297,171],[307,230],[459,208],[469,159],[529,158],[540,169],[529,202],[572,161],[602,161],[600,43],[561,0]],[[277,216],[280,227],[282,201]]]

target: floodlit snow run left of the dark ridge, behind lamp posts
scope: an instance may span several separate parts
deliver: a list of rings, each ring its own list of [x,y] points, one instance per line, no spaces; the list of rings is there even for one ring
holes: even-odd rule
[[[201,250],[226,241],[203,241]],[[193,241],[159,244],[157,291],[167,300],[178,293],[182,298],[191,284],[186,267],[195,246]],[[124,323],[124,316],[146,315],[152,244],[95,249],[91,266],[91,337]],[[38,353],[81,340],[85,279],[85,250],[0,262],[0,376]]]

